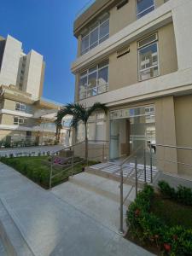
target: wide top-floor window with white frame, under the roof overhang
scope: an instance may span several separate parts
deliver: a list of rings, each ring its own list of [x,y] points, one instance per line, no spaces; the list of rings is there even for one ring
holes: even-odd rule
[[[82,35],[81,55],[109,38],[109,15],[104,15]]]

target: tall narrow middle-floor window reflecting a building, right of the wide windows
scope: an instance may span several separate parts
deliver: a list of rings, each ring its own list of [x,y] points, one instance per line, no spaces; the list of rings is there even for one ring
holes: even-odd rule
[[[138,42],[138,66],[140,81],[160,75],[156,33]]]

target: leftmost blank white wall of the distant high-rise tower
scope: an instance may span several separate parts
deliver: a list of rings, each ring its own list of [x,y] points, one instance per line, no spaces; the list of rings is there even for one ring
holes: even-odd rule
[[[4,48],[0,84],[16,85],[22,44],[8,35]]]

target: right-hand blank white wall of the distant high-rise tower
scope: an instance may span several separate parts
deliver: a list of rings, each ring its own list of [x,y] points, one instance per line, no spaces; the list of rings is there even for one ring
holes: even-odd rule
[[[43,67],[43,56],[32,50],[26,57],[26,70],[24,78],[24,89],[38,99],[41,85],[41,74]]]

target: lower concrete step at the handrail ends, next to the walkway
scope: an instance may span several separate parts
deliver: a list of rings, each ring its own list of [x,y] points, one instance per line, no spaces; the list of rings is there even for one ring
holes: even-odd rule
[[[118,202],[71,182],[62,183],[51,191],[60,201],[67,202],[109,230],[119,232]],[[124,207],[124,220],[126,210],[127,207]],[[125,221],[124,229],[126,230]]]

